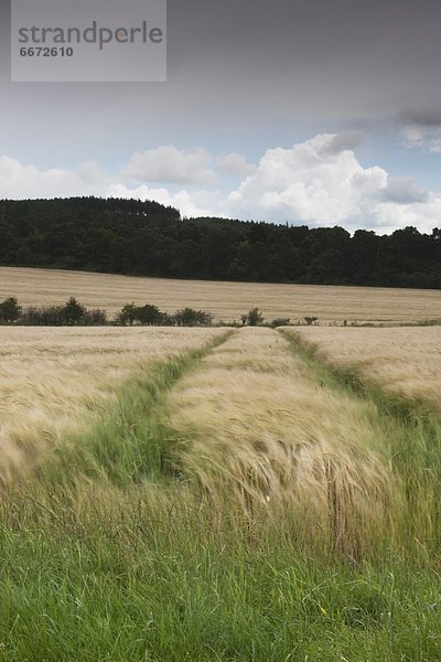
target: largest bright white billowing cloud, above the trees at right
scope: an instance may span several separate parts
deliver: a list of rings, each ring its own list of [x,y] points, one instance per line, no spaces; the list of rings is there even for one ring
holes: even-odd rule
[[[322,134],[290,149],[269,149],[256,171],[232,191],[228,214],[348,229],[391,232],[416,225],[429,231],[441,220],[440,195],[412,178],[364,168],[353,148],[359,134]]]

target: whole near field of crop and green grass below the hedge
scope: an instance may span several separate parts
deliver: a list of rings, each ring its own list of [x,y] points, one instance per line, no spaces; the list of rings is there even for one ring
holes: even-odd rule
[[[440,660],[441,425],[299,341],[358,331],[3,328],[0,659]]]

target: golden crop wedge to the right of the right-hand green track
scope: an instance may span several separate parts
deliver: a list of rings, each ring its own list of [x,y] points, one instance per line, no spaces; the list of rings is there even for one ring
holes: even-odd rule
[[[441,405],[441,327],[299,329],[337,365],[354,365],[385,388]]]

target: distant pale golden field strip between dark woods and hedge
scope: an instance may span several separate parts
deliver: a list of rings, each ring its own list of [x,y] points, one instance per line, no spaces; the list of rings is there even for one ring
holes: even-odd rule
[[[441,291],[387,288],[271,285],[172,280],[0,267],[0,300],[15,296],[23,306],[64,303],[77,297],[89,308],[109,313],[127,302],[154,303],[166,312],[185,306],[209,311],[229,322],[258,307],[267,320],[305,316],[321,323],[347,321],[406,322],[441,318]]]

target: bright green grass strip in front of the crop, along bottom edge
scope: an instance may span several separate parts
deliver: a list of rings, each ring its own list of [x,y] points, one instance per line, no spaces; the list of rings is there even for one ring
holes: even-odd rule
[[[120,526],[1,532],[4,660],[440,659],[435,574]]]

